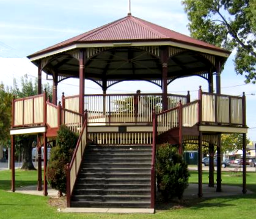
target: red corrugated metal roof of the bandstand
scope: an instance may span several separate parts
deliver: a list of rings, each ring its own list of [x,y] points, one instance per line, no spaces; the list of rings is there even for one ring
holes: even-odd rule
[[[41,51],[35,52],[31,56],[34,57],[45,52],[54,51],[68,45],[75,43],[99,43],[99,42],[119,42],[119,41],[157,41],[169,40],[185,43],[189,45],[199,46],[207,49],[228,52],[217,46],[210,45],[200,40],[188,37],[178,32],[172,31],[165,27],[158,26],[148,21],[136,18],[134,16],[125,16],[112,23],[105,24],[104,26],[93,29],[92,31],[78,35],[76,37],[65,40],[54,46],[48,47]]]

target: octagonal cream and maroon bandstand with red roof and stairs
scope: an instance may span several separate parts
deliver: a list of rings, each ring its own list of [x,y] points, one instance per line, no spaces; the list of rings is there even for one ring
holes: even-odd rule
[[[46,148],[48,140],[56,138],[60,124],[66,124],[80,135],[73,159],[67,166],[68,207],[154,208],[155,147],[163,142],[178,145],[180,153],[183,143],[197,143],[199,164],[202,146],[208,146],[211,187],[216,146],[217,191],[221,192],[221,134],[243,134],[243,151],[246,150],[245,96],[221,94],[221,70],[229,55],[229,51],[136,18],[131,13],[35,52],[28,58],[38,66],[38,95],[13,100],[12,162],[15,135],[37,134],[40,154],[40,146]],[[42,94],[42,71],[53,77],[52,102],[47,101],[46,93]],[[192,76],[208,81],[208,92],[200,88],[196,101],[190,101],[189,92],[188,95],[167,92],[167,85],[173,81]],[[79,94],[63,95],[61,104],[57,104],[58,83],[74,77],[79,78]],[[103,94],[84,95],[85,79],[97,83]],[[109,87],[123,81],[148,81],[161,87],[162,92],[106,94]],[[122,153],[130,158],[122,162]],[[105,158],[99,158],[100,154]],[[95,159],[90,159],[92,157]],[[111,162],[113,159],[115,162]],[[45,169],[46,160],[45,153]],[[12,172],[14,192],[14,168]],[[42,187],[39,172],[38,189]],[[202,197],[201,165],[198,172],[198,195]],[[43,188],[47,195],[46,173]],[[243,193],[246,193],[245,164]]]

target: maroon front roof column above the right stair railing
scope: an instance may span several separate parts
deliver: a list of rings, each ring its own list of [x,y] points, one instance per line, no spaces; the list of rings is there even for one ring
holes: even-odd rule
[[[168,47],[161,47],[161,62],[162,62],[162,98],[163,98],[163,110],[168,109],[168,96],[167,96],[167,80],[168,80]]]

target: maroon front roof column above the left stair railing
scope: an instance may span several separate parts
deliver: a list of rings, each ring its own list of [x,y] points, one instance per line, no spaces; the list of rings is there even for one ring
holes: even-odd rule
[[[84,51],[79,51],[79,113],[84,114]]]

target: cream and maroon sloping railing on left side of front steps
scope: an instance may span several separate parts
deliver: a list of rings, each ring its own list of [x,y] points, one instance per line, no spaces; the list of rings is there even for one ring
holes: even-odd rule
[[[82,126],[82,131],[78,138],[78,143],[76,144],[75,151],[70,163],[67,163],[66,173],[67,173],[67,207],[70,207],[71,195],[73,188],[79,173],[79,169],[82,162],[82,157],[87,146],[87,110],[85,113],[85,120]]]

